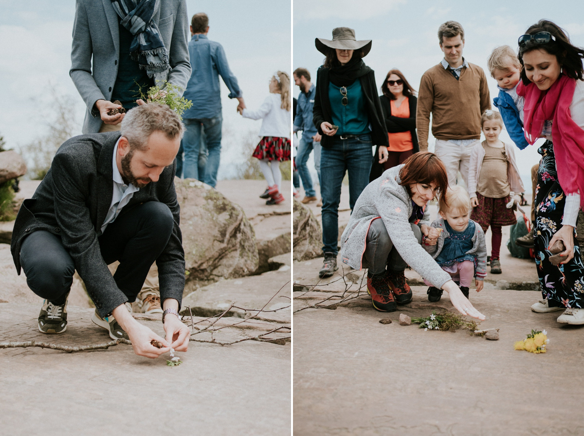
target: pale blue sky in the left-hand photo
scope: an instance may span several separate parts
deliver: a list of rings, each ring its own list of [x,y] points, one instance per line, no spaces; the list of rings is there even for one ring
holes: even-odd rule
[[[100,1],[100,0],[95,0]],[[162,0],[164,1],[164,0]],[[190,16],[206,12],[208,37],[225,48],[231,70],[238,78],[248,107],[257,109],[268,95],[268,80],[278,69],[288,72],[291,59],[289,0],[187,0]],[[51,83],[61,95],[74,99],[71,108],[81,123],[84,103],[69,78],[74,0],[0,0],[0,135],[8,147],[27,144],[45,130],[38,104],[50,104]],[[239,139],[259,132],[261,121],[236,113],[237,100],[227,98],[222,83],[224,123],[230,135],[225,147],[237,151]],[[237,157],[225,152],[224,165]]]

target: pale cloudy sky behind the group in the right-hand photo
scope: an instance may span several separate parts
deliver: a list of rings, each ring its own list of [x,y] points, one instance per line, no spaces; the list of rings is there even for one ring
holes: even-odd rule
[[[517,38],[542,18],[557,23],[574,44],[584,47],[584,8],[573,0],[294,0],[293,70],[305,67],[316,77],[324,56],[314,46],[315,37],[332,39],[334,27],[352,27],[357,40],[373,40],[364,62],[375,70],[378,86],[387,71],[398,68],[418,89],[423,73],[443,57],[438,27],[456,20],[465,31],[464,58],[485,70],[492,98],[498,90],[486,68],[491,50],[503,44],[516,48]],[[295,96],[298,91],[295,86]],[[509,141],[506,132],[501,139]],[[433,139],[429,144],[433,150]],[[522,174],[529,175],[539,158],[537,147],[517,149],[516,158]]]

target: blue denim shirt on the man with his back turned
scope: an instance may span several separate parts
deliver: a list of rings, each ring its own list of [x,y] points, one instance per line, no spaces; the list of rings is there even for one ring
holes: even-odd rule
[[[230,90],[230,99],[243,95],[237,78],[229,69],[223,46],[208,40],[207,35],[193,35],[189,41],[189,55],[193,71],[183,96],[192,100],[193,106],[185,111],[183,118],[214,118],[221,114],[219,76]]]

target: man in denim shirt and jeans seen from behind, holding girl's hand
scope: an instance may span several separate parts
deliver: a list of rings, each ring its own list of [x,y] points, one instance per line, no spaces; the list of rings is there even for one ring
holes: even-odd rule
[[[190,26],[192,39],[189,42],[190,64],[193,72],[186,85],[185,98],[192,100],[193,106],[183,114],[186,131],[181,142],[185,152],[183,175],[199,179],[210,186],[217,184],[217,170],[221,156],[221,96],[219,75],[230,90],[230,99],[236,98],[238,107],[245,108],[237,78],[227,64],[227,57],[221,44],[207,39],[209,19],[206,13],[193,15]],[[203,139],[204,135],[204,139]],[[205,140],[208,149],[204,175],[199,174],[199,150]]]

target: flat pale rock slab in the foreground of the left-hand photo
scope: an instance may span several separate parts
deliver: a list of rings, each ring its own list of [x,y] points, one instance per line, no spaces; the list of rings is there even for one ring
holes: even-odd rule
[[[0,304],[0,342],[110,341],[91,322],[92,309],[69,306],[67,331],[58,335],[37,330],[38,313],[36,304]],[[164,334],[159,320],[140,322]],[[266,326],[227,330],[215,339],[255,336]],[[150,360],[124,344],[70,354],[1,349],[2,434],[102,434],[104,423],[113,435],[290,434],[290,343],[191,342],[186,353],[176,355],[183,363],[168,367],[168,355]]]

